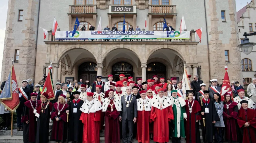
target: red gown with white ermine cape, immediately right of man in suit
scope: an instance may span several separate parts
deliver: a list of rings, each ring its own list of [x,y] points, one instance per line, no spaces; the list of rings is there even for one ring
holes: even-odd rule
[[[137,99],[137,101],[140,99]],[[143,107],[140,105],[140,101],[137,102],[138,104],[138,109],[140,107]],[[150,102],[147,100],[147,103],[144,103],[145,110],[144,111],[139,111],[138,110],[138,116],[137,116],[137,136],[136,139],[138,142],[142,143],[149,143],[149,123],[152,122],[150,120]],[[146,111],[146,108],[148,108],[148,111]]]

